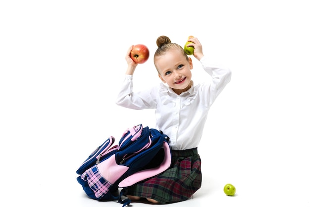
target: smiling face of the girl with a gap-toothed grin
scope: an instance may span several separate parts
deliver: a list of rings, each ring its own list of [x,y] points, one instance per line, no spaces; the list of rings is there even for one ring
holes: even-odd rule
[[[158,76],[162,82],[167,83],[178,95],[191,87],[193,63],[177,50],[169,51],[156,60]]]

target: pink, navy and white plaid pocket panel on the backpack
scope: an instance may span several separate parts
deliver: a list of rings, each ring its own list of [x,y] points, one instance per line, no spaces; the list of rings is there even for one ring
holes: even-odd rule
[[[81,178],[88,182],[89,187],[94,191],[96,198],[99,199],[103,198],[112,185],[100,174],[97,165],[85,171]]]

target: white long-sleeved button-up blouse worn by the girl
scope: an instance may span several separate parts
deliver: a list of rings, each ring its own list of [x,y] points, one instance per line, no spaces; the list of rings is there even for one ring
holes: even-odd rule
[[[230,69],[208,67],[206,57],[200,62],[211,76],[210,82],[192,84],[180,95],[163,83],[133,92],[133,75],[125,75],[116,104],[136,110],[155,109],[156,129],[169,136],[171,149],[198,147],[209,108],[231,79]]]

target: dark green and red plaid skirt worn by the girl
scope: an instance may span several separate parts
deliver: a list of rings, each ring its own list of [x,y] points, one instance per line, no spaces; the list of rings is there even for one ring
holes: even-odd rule
[[[171,166],[163,173],[127,189],[127,195],[154,199],[161,204],[189,199],[202,183],[197,148],[171,150]]]

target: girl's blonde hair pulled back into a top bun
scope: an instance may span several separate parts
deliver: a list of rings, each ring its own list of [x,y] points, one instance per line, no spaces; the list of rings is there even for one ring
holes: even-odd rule
[[[171,40],[169,39],[169,37],[167,36],[160,36],[157,38],[156,40],[156,44],[157,44],[157,50],[155,51],[154,54],[154,64],[155,64],[155,68],[156,67],[156,60],[158,57],[163,56],[164,54],[166,54],[166,52],[171,51],[171,50],[178,50],[183,56],[184,58],[189,61],[187,54],[185,53],[183,47],[181,47],[180,45],[176,44],[176,43],[171,43]],[[158,71],[158,69],[157,69]]]

